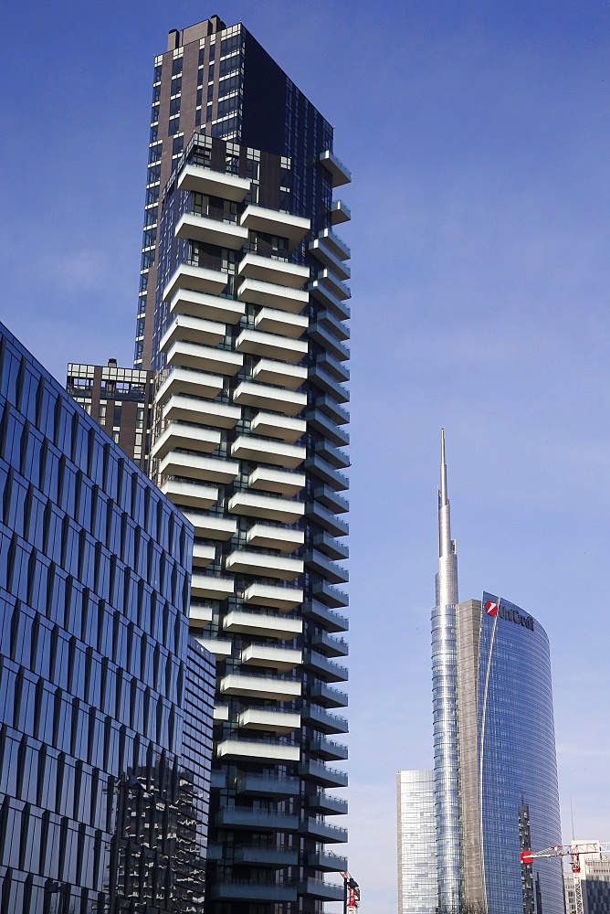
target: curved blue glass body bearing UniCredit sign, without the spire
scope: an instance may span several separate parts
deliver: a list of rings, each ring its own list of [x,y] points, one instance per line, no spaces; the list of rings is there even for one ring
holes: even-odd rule
[[[561,844],[548,638],[529,613],[489,593],[482,606],[458,604],[457,620],[458,731],[471,724],[468,675],[477,664],[477,765],[460,757],[459,785],[471,801],[462,803],[462,831],[479,850],[482,899],[489,914],[541,903],[544,914],[563,914],[559,860],[520,863],[525,845]],[[478,633],[474,655],[460,630]]]

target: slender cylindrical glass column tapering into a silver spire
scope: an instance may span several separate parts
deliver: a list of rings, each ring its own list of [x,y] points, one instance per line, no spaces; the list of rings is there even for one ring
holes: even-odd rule
[[[458,734],[456,728],[456,603],[458,556],[451,539],[445,432],[440,439],[438,573],[432,611],[432,707],[438,897],[449,909],[459,900]]]

